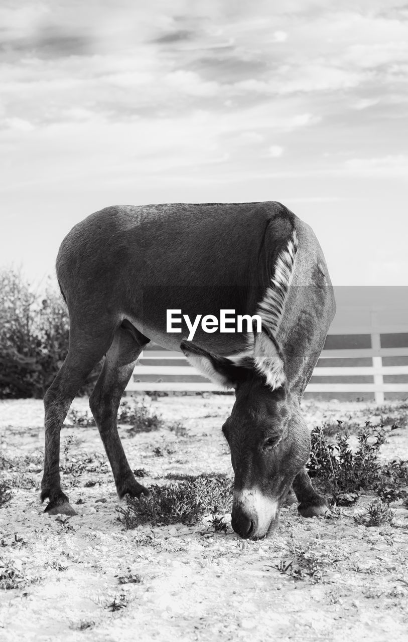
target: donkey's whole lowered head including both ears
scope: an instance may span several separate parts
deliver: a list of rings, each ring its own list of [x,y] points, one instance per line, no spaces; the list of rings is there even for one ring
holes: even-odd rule
[[[235,388],[236,400],[222,431],[235,473],[232,526],[241,537],[267,534],[310,452],[297,397],[287,386],[283,356],[265,331],[254,335],[251,358],[215,357],[190,342],[182,350],[208,376]]]

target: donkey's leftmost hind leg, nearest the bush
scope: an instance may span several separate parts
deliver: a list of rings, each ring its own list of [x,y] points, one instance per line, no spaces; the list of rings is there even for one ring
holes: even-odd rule
[[[103,336],[75,333],[71,323],[69,350],[60,371],[44,396],[45,449],[44,474],[41,482],[41,501],[49,498],[46,512],[75,515],[68,498],[61,489],[60,430],[69,406],[86,377],[109,349],[113,332],[107,329]]]

